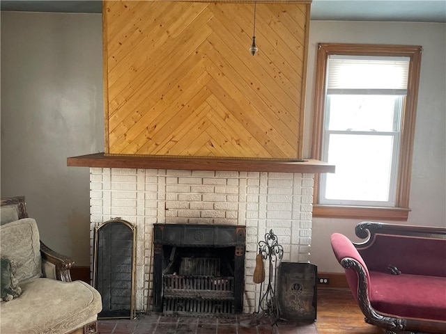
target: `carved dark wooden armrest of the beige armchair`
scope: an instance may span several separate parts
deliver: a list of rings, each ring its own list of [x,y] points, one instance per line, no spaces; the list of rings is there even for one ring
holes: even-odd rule
[[[70,269],[75,265],[75,261],[46,246],[40,241],[40,255],[42,256],[43,276],[71,282]]]

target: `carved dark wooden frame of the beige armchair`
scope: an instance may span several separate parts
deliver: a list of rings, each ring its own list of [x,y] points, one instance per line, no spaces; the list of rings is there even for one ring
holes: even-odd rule
[[[6,205],[17,208],[17,216],[19,219],[29,218],[24,196],[1,198],[0,206],[3,207]],[[54,278],[62,282],[72,282],[70,269],[75,264],[74,260],[61,253],[57,253],[47,247],[42,241],[40,241],[40,255],[42,257],[42,269],[45,277]],[[71,331],[69,334],[98,334],[98,322],[92,321],[89,324],[85,324]]]

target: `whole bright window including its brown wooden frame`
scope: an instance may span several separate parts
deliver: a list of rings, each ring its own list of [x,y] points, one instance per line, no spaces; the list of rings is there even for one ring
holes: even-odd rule
[[[421,47],[320,44],[314,216],[406,220]]]

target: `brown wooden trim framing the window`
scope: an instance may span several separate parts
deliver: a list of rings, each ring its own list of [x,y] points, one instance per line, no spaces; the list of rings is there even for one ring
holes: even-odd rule
[[[410,58],[408,93],[403,106],[401,142],[399,152],[399,173],[394,207],[362,207],[348,205],[321,205],[319,198],[319,177],[314,178],[313,216],[324,218],[379,219],[407,221],[410,196],[410,175],[412,170],[413,142],[415,139],[415,118],[417,111],[418,86],[420,81],[421,46],[412,45],[367,45],[319,43],[316,61],[316,87],[314,95],[314,120],[312,136],[312,157],[321,160],[323,116],[325,107],[325,73],[328,56],[343,54],[352,56],[407,56]]]

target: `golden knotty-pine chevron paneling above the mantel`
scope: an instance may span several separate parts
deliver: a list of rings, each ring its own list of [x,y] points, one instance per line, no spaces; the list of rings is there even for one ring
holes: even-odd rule
[[[108,154],[296,158],[309,3],[105,1]]]

